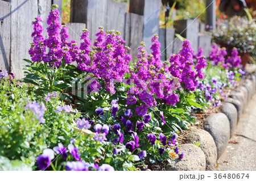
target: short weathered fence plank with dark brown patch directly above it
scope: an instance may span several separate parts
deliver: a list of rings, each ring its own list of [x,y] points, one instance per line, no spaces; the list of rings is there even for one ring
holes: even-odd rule
[[[126,13],[126,28],[125,28],[125,40],[126,45],[129,46],[130,54],[134,58],[139,53],[138,47],[141,46],[143,37],[143,16],[127,12]]]

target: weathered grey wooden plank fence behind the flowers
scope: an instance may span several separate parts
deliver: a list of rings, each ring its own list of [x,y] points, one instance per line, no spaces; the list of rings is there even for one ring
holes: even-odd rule
[[[44,30],[46,19],[52,4],[59,5],[61,13],[62,0],[0,0],[0,70],[8,70],[16,78],[23,77],[23,58],[30,59],[28,49],[32,41],[32,21],[35,16],[43,20]],[[90,39],[94,40],[98,27],[105,30],[121,32],[130,53],[136,57],[141,41],[146,43],[146,50],[151,52],[151,37],[159,35],[162,60],[171,53],[177,53],[182,42],[174,38],[174,33],[181,33],[191,40],[193,49],[203,47],[208,54],[210,36],[201,35],[198,20],[181,20],[175,23],[175,29],[160,29],[161,0],[130,0],[127,3],[117,3],[111,0],[72,0],[69,27],[69,40],[80,42],[83,28],[90,31]],[[185,30],[185,31],[183,31]],[[47,32],[44,31],[47,37]]]

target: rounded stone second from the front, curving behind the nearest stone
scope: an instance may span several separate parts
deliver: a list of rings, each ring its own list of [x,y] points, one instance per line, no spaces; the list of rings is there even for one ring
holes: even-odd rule
[[[217,148],[210,133],[204,129],[191,129],[187,135],[187,140],[190,143],[200,142],[199,148],[205,154],[206,170],[214,170],[217,161]]]

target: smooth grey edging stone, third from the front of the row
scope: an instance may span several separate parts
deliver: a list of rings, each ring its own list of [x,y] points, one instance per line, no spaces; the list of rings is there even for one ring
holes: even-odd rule
[[[213,137],[217,148],[217,159],[220,158],[229,143],[230,126],[228,117],[222,112],[214,113],[205,119],[204,129]]]

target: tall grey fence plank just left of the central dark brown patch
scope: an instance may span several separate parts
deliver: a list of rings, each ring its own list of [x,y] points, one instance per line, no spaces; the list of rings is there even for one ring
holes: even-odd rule
[[[107,1],[107,19],[106,30],[115,30],[121,33],[124,37],[125,34],[125,13],[127,9],[127,3],[118,3],[114,1]]]

